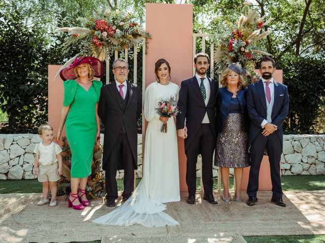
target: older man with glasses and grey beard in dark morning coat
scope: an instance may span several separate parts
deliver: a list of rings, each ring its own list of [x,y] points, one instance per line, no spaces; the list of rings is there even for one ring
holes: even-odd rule
[[[115,81],[103,86],[98,114],[105,125],[103,170],[105,170],[107,206],[114,207],[117,195],[116,171],[124,170],[123,201],[134,190],[137,169],[138,119],[142,111],[140,88],[127,82],[128,63],[113,62]]]

